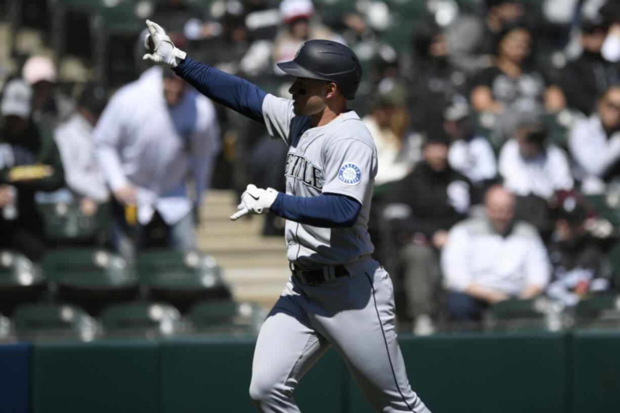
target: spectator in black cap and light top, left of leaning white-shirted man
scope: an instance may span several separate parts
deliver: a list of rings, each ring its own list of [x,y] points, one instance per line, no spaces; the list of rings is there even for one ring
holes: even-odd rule
[[[94,215],[97,204],[109,197],[92,141],[92,131],[106,104],[104,88],[88,84],[79,97],[76,113],[54,131],[67,186],[86,216]]]

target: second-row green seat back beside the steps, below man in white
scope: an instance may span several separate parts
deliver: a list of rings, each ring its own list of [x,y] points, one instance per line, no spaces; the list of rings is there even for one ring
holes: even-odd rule
[[[215,259],[199,252],[140,252],[136,271],[142,282],[159,290],[214,290],[223,286]]]

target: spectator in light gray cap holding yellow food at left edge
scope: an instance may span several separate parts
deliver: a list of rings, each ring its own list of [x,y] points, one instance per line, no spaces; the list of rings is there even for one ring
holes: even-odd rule
[[[35,192],[59,189],[64,172],[50,131],[30,118],[31,99],[32,88],[20,79],[6,84],[0,105],[0,248],[38,261],[45,242]]]

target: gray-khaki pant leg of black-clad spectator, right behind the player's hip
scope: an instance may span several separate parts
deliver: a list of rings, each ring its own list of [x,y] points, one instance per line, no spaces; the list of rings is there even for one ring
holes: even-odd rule
[[[416,318],[420,314],[432,314],[435,251],[431,246],[410,242],[399,251],[399,259],[403,269],[407,316]]]

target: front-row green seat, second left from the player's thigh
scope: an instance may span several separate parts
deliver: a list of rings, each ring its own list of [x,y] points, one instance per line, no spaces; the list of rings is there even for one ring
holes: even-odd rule
[[[163,303],[112,304],[101,313],[105,335],[171,335],[184,331],[179,311]]]

